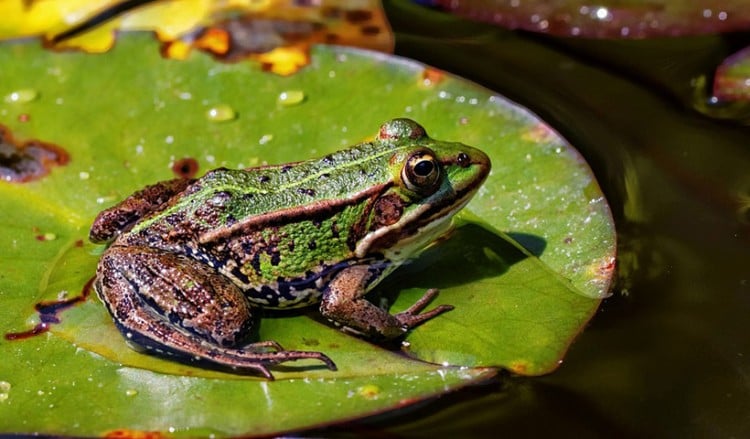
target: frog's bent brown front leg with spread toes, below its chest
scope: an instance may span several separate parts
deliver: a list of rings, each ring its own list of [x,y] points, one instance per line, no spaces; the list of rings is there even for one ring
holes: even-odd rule
[[[420,314],[438,293],[436,289],[430,289],[406,311],[389,314],[364,297],[367,284],[377,276],[371,270],[366,265],[354,265],[336,274],[323,293],[320,313],[346,330],[367,338],[393,339],[410,328],[453,309],[451,305],[440,305]]]

